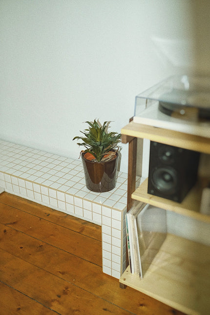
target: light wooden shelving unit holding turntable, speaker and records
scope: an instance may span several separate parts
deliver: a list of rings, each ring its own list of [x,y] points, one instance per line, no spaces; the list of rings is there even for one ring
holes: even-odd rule
[[[190,190],[183,202],[176,203],[147,193],[147,179],[136,189],[137,138],[183,147],[210,154],[210,138],[130,122],[122,128],[122,140],[129,143],[127,210],[133,200],[191,217],[210,224],[210,216],[199,212],[202,185]],[[210,228],[210,226],[209,226]],[[189,315],[210,313],[210,247],[167,234],[143,279],[131,274],[129,266],[120,278],[132,287]]]

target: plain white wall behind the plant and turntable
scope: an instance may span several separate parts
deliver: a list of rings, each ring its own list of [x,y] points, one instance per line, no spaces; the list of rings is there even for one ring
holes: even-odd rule
[[[111,120],[120,132],[137,94],[197,64],[210,69],[210,44],[208,63],[196,44],[205,2],[1,0],[0,138],[78,158],[72,138],[84,121]]]

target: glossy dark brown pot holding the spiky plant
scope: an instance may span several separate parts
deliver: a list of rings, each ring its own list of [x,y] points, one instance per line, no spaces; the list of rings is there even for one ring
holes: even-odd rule
[[[115,188],[117,175],[118,153],[110,161],[93,162],[84,158],[82,161],[84,167],[86,187],[91,191],[105,192]]]

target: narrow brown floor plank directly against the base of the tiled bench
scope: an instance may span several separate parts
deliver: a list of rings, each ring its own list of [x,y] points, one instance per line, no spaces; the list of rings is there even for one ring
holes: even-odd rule
[[[102,240],[101,226],[84,221],[62,211],[42,206],[36,202],[12,195],[5,191],[0,194],[0,203],[39,216],[47,221],[56,223],[86,236],[90,236],[99,241]]]

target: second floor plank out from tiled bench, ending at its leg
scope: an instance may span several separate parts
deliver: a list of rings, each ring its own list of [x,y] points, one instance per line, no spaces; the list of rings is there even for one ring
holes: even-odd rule
[[[89,236],[1,203],[0,221],[6,226],[102,266],[102,244]]]

